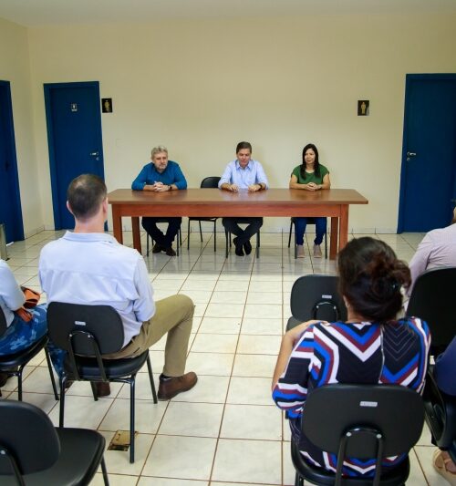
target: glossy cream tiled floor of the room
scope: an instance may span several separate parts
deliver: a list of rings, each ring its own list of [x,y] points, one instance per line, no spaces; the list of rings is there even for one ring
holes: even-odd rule
[[[61,233],[61,232],[60,232]],[[43,232],[9,247],[10,264],[20,284],[39,288],[36,276],[41,247],[59,232]],[[357,235],[358,236],[358,235]],[[409,261],[422,234],[385,234]],[[186,235],[183,235],[186,238]],[[295,260],[286,248],[287,234],[262,233],[261,255],[224,258],[224,236],[213,252],[212,236],[192,233],[181,256],[151,254],[146,258],[155,297],[183,293],[196,304],[187,369],[199,376],[195,388],[154,405],[147,374],[137,382],[136,461],[127,452],[107,451],[114,486],[228,486],[233,484],[293,484],[289,431],[270,398],[275,357],[286,320],[293,282],[302,274],[332,274],[335,264],[308,256]],[[127,233],[127,244],[130,243]],[[144,236],[143,236],[144,242]],[[308,242],[312,243],[312,235]],[[145,247],[145,244],[143,245]],[[311,247],[311,245],[310,245]],[[45,297],[45,296],[44,296]],[[161,372],[164,343],[151,348],[152,367]],[[3,388],[4,398],[16,398],[16,380]],[[43,408],[57,423],[58,404],[52,393],[43,356],[26,369],[24,399]],[[107,439],[129,429],[129,391],[111,385],[111,396],[98,402],[88,383],[68,390],[66,424],[98,429]],[[410,454],[408,485],[447,484],[434,472],[430,435],[423,432]],[[98,474],[93,484],[102,484]]]

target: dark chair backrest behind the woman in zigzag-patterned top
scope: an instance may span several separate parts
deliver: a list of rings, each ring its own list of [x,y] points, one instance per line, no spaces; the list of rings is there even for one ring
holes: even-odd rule
[[[377,432],[384,440],[381,457],[409,452],[424,422],[420,394],[399,385],[326,385],[309,393],[305,410],[307,439],[337,454],[347,431],[355,431],[347,440],[346,457],[358,459],[377,457]]]

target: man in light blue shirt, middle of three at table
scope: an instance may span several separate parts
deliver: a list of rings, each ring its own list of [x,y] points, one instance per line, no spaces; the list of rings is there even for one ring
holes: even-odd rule
[[[263,191],[268,183],[263,167],[258,160],[252,160],[252,145],[248,141],[241,141],[236,147],[236,160],[231,161],[223,172],[219,188],[224,191]],[[247,222],[243,230],[238,222]],[[258,233],[263,225],[263,218],[223,218],[223,226],[230,233],[236,235],[233,243],[239,256],[252,253],[250,239]]]

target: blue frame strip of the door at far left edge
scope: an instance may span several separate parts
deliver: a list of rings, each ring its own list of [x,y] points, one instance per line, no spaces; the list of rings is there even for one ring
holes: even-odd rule
[[[22,203],[21,192],[19,186],[19,174],[17,170],[17,154],[16,154],[16,135],[15,135],[15,122],[13,118],[13,101],[11,98],[11,83],[9,81],[0,80],[0,88],[5,95],[5,141],[6,148],[9,152],[11,169],[9,176],[9,182],[13,191],[13,211],[15,212],[16,225],[13,229],[13,241],[24,240],[24,220],[22,217]]]

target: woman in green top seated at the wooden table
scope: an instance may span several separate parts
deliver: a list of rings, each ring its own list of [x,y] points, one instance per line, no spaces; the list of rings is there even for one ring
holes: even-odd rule
[[[313,143],[308,143],[303,149],[303,163],[295,167],[291,174],[290,189],[305,191],[320,191],[329,189],[329,171],[318,161],[318,150]],[[314,256],[321,258],[320,244],[326,233],[326,218],[313,218],[316,223],[316,239],[314,240]],[[304,258],[304,233],[306,233],[307,218],[295,218],[295,235],[297,257]]]

